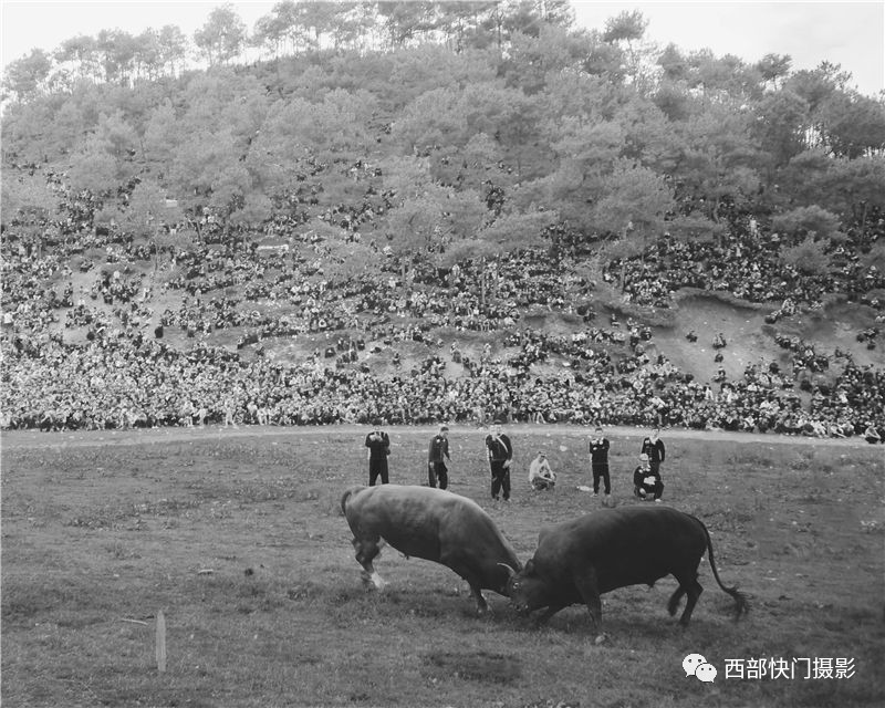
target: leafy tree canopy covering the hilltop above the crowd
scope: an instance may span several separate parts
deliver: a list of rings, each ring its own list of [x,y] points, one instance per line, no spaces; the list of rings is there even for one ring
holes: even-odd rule
[[[440,262],[553,225],[695,237],[760,195],[800,237],[885,206],[885,106],[840,66],[655,48],[639,12],[572,22],[556,0],[283,0],[251,32],[221,6],[192,38],[73,37],[10,64],[2,159],[121,199],[133,229],[160,197],[258,232],[309,187],[330,215],[347,195]]]

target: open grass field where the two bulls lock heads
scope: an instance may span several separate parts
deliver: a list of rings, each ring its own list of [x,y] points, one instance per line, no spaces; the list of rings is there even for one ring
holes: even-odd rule
[[[450,434],[451,489],[489,510],[528,560],[542,524],[593,511],[585,431],[523,427],[510,504],[492,506],[483,433]],[[506,597],[477,618],[451,571],[386,549],[391,583],[366,592],[341,516],[365,483],[364,430],[40,435],[2,446],[2,702],[13,706],[848,706],[883,705],[885,457],[863,442],[665,434],[665,500],[705,521],[726,584],[687,631],[675,587],[604,596],[537,629]],[[429,429],[392,429],[392,481],[424,481]],[[617,430],[612,470],[629,497],[641,431]],[[555,492],[530,492],[548,451]],[[158,673],[163,610],[168,664]],[[714,683],[686,677],[702,654]],[[854,675],[726,676],[728,659],[852,659]],[[735,664],[732,664],[735,666]],[[747,671],[749,674],[749,671]]]

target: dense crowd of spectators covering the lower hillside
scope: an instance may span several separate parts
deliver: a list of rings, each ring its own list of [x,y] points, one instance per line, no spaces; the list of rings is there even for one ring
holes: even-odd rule
[[[366,165],[353,169],[355,181],[374,174]],[[666,356],[649,356],[648,327],[594,321],[587,305],[594,285],[576,274],[583,271],[575,249],[527,249],[451,268],[396,256],[369,236],[373,219],[389,207],[389,195],[371,188],[355,206],[327,206],[321,186],[305,176],[288,198],[291,216],[275,217],[264,233],[284,248],[261,249],[250,238],[214,241],[214,220],[205,215],[205,238],[169,248],[157,268],[158,254],[144,243],[113,225],[95,227],[90,195],[64,192],[58,175],[50,184],[65,196],[60,218],[6,225],[4,428],[376,417],[654,423],[831,437],[861,435],[871,423],[885,427],[885,374],[796,337],[778,339],[789,366],[760,361],[738,379],[695,381]],[[332,272],[325,239],[299,228],[312,218],[367,248],[373,269]],[[784,269],[775,236],[753,229],[717,243],[664,236],[642,258],[606,263],[603,278],[623,284],[633,303],[655,306],[669,306],[687,285],[783,302],[779,316],[827,292],[881,306],[871,293],[883,278],[856,256],[879,230],[874,220],[852,232],[823,275]],[[88,284],[75,288],[75,277]],[[573,331],[530,324],[532,314],[549,312],[572,315]],[[230,344],[210,344],[222,331],[232,333]],[[283,361],[266,347],[274,337],[306,337],[313,351]]]

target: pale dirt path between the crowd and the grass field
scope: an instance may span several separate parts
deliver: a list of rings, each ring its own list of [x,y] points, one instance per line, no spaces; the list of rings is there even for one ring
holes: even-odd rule
[[[450,435],[476,434],[480,430],[477,426],[450,426]],[[551,435],[585,438],[591,434],[590,428],[568,425],[530,425],[517,424],[506,426],[508,433],[518,436],[546,437]],[[340,437],[365,435],[368,428],[360,425],[335,425],[324,427],[285,427],[275,426],[244,426],[227,428],[221,426],[207,426],[206,428],[156,428],[153,430],[84,430],[70,433],[40,433],[39,430],[8,430],[0,435],[0,450],[14,449],[46,449],[66,447],[103,447],[123,445],[149,445],[199,440],[220,440],[228,438],[288,438],[296,436]],[[436,430],[435,426],[392,426],[387,428],[394,436],[429,437]],[[647,428],[625,426],[610,426],[605,428],[608,438],[639,438]],[[705,431],[689,430],[686,428],[668,428],[660,436],[665,442],[668,439],[705,439],[728,440],[748,445],[808,445],[834,446],[856,448],[868,446],[861,437],[847,439],[809,438],[790,435],[761,435],[757,433],[728,433],[725,430]],[[885,450],[884,450],[885,451]]]

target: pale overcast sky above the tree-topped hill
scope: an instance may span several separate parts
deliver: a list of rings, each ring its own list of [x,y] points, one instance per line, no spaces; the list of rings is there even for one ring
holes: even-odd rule
[[[54,50],[79,34],[103,29],[138,34],[148,27],[176,24],[192,37],[222,0],[0,0],[2,66],[32,49]],[[231,2],[251,31],[275,4]],[[814,69],[821,61],[852,73],[850,85],[874,96],[885,90],[885,0],[860,2],[730,2],[657,0],[596,2],[573,0],[580,27],[604,29],[623,11],[639,10],[645,39],[662,48],[673,42],[684,52],[710,49],[753,63],[766,54],[789,54],[792,69]]]

